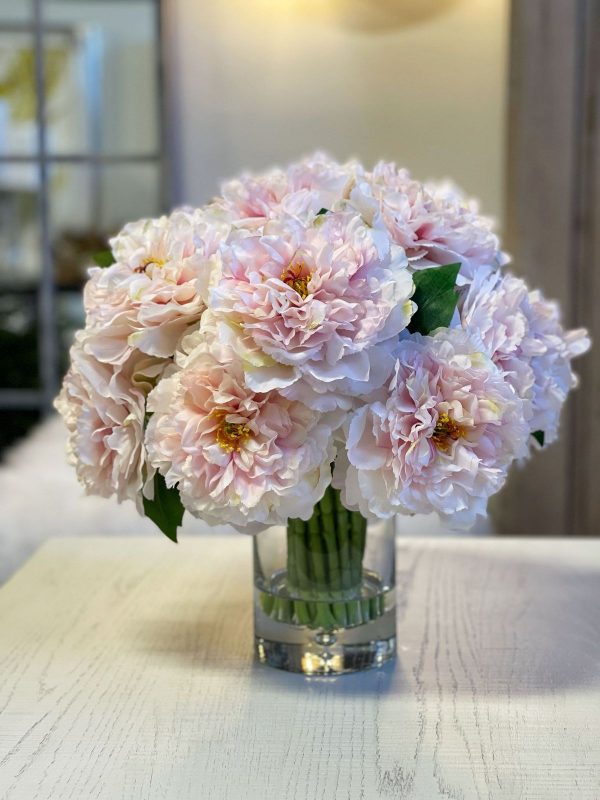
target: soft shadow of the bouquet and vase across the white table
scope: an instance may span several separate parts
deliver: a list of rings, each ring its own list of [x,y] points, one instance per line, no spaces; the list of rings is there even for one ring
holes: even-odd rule
[[[380,695],[541,695],[600,682],[600,570],[557,566],[513,551],[436,544],[399,551],[395,663],[334,678],[253,661],[250,597],[227,606],[165,609],[135,625],[134,647],[182,669],[218,672],[256,689]],[[567,552],[567,551],[565,551]]]

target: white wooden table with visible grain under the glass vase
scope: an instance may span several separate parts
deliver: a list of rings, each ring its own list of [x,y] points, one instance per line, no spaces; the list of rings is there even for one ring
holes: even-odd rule
[[[600,798],[600,542],[400,539],[399,657],[252,659],[243,536],[61,539],[0,590],[0,798]]]

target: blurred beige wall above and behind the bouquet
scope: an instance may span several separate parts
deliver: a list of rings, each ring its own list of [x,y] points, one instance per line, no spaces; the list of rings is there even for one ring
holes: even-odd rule
[[[322,148],[452,176],[500,217],[508,0],[167,0],[167,15],[177,201]]]

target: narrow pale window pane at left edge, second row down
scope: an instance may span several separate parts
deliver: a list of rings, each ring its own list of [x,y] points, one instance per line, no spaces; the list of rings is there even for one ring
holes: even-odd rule
[[[38,188],[35,165],[0,164],[0,292],[39,277]]]

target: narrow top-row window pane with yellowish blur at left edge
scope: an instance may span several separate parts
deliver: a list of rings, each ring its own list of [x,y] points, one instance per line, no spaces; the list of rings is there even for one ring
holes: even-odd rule
[[[37,149],[35,50],[28,0],[0,0],[0,155]]]

